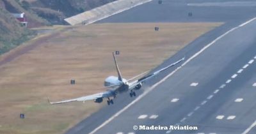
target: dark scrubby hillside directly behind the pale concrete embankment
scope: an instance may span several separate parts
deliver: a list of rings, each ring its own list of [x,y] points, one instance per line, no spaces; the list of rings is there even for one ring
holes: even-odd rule
[[[25,0],[22,3],[51,24],[67,24],[63,19],[113,1],[116,0]]]

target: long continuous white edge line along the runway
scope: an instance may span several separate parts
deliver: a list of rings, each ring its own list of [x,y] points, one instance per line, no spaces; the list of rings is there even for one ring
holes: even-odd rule
[[[183,64],[181,64],[181,66],[177,67],[175,70],[173,70],[171,73],[169,73],[166,77],[164,77],[162,80],[160,80],[159,82],[157,82],[156,84],[154,84],[152,87],[150,87],[148,90],[145,90],[144,93],[142,93],[140,96],[138,96],[138,98],[136,98],[134,101],[132,101],[131,103],[129,103],[127,106],[125,106],[124,108],[122,108],[121,110],[119,110],[118,112],[116,112],[116,114],[114,114],[112,117],[110,117],[108,120],[106,120],[104,123],[100,124],[100,126],[98,126],[97,128],[95,128],[93,131],[91,131],[89,134],[93,134],[96,131],[98,131],[100,128],[102,128],[103,126],[105,126],[106,124],[108,124],[109,122],[111,122],[113,119],[115,119],[116,117],[118,117],[118,115],[122,114],[122,112],[124,112],[125,110],[127,110],[127,108],[131,107],[134,103],[136,103],[137,101],[141,100],[141,98],[143,98],[144,96],[146,96],[148,93],[150,93],[150,91],[152,91],[156,86],[158,86],[159,84],[163,83],[167,78],[171,77],[176,71],[178,71],[180,68],[182,68],[182,66],[185,66],[186,64],[189,63],[189,61],[191,61],[192,59],[194,59],[195,57],[197,57],[199,54],[201,54],[202,52],[204,52],[205,49],[211,47],[212,44],[214,44],[216,41],[220,40],[221,38],[223,38],[225,35],[227,35],[228,33],[234,31],[235,29],[239,28],[239,27],[243,27],[246,24],[252,22],[253,20],[255,20],[255,18],[248,20],[247,22],[244,22],[243,24],[234,27],[232,29],[230,29],[229,31],[227,31],[224,34],[221,34],[221,36],[219,36],[218,38],[216,38],[215,40],[211,41],[211,43],[205,45],[205,47],[203,47],[202,49],[200,49],[198,52],[196,52],[193,56],[189,57],[189,59],[187,61],[185,61]]]

